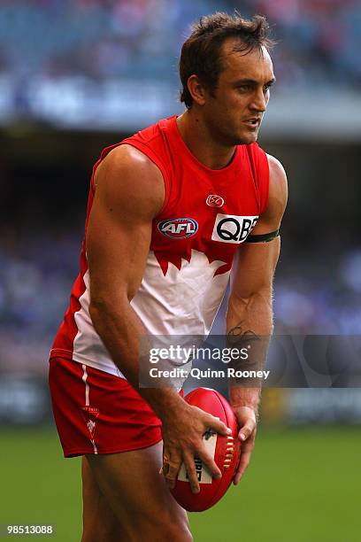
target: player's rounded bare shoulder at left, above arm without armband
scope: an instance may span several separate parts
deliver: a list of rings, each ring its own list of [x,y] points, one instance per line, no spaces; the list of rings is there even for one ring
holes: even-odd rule
[[[160,211],[165,187],[158,167],[132,145],[115,147],[96,168],[96,197],[123,211],[155,216]]]

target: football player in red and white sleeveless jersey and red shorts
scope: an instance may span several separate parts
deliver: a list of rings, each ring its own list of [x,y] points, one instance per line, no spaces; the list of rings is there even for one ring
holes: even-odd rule
[[[139,387],[141,337],[206,336],[231,269],[227,332],[272,333],[287,182],[256,143],[275,80],[267,28],[260,16],[202,18],[181,50],[185,112],[105,149],[94,167],[81,273],[50,356],[65,457],[83,456],[83,542],[191,540],[169,487],[184,462],[199,492],[195,455],[220,476],[202,436],[227,427],[173,388]],[[238,484],[259,389],[234,386],[230,400]]]

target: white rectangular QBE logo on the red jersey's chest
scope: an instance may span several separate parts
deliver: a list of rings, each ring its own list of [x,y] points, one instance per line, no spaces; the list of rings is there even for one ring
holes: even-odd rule
[[[257,216],[236,216],[234,214],[220,214],[216,216],[212,241],[222,243],[243,243],[255,227]]]

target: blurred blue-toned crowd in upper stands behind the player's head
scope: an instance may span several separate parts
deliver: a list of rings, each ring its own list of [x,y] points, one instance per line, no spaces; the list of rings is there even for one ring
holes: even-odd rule
[[[49,81],[90,81],[94,92],[114,79],[175,87],[190,23],[234,9],[269,19],[277,92],[359,88],[357,0],[0,0],[0,109],[12,96],[14,114],[32,114]]]

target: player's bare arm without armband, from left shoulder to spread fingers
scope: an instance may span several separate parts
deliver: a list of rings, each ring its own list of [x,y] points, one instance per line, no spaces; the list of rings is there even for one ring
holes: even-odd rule
[[[123,145],[98,166],[95,182],[86,238],[91,319],[114,363],[163,422],[170,484],[185,461],[192,487],[198,489],[195,454],[215,476],[220,474],[205,453],[202,435],[208,427],[226,434],[226,426],[210,414],[196,413],[172,388],[138,385],[140,337],[147,331],[130,301],[142,282],[152,221],[164,202],[162,175],[142,152]]]

